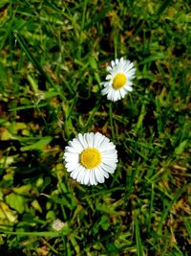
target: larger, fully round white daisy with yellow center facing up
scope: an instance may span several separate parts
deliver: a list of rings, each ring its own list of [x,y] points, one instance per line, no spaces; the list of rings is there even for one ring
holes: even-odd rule
[[[71,176],[84,185],[103,183],[117,168],[117,150],[113,142],[99,132],[77,134],[64,153]]]

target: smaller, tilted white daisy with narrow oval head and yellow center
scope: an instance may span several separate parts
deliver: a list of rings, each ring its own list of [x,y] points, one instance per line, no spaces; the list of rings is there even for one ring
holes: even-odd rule
[[[104,85],[102,95],[107,95],[107,99],[117,102],[123,99],[128,91],[132,91],[132,80],[135,78],[136,68],[134,63],[124,58],[112,60],[111,66],[107,67],[109,75],[101,82]]]

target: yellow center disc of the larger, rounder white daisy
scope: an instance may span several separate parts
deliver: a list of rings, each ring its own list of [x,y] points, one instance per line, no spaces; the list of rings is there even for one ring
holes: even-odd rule
[[[101,161],[101,154],[95,148],[88,148],[79,154],[79,162],[86,169],[95,168]]]

